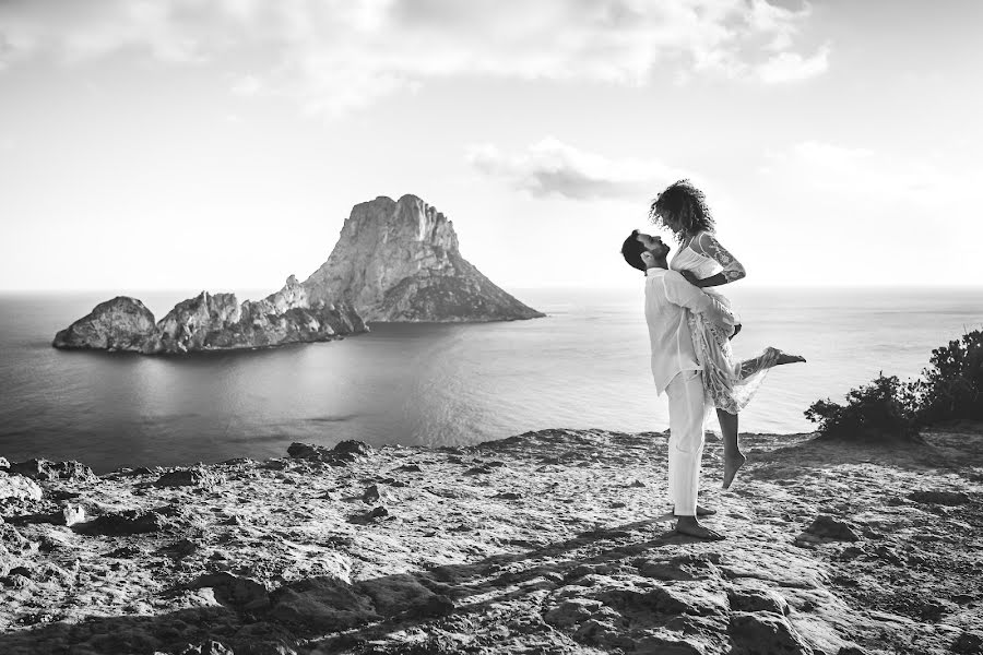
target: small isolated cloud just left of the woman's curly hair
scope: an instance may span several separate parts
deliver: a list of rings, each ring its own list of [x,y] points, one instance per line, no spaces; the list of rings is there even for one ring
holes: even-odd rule
[[[536,198],[571,200],[648,199],[686,172],[650,159],[609,159],[546,138],[519,154],[490,144],[469,148],[467,162],[478,171],[505,180]]]

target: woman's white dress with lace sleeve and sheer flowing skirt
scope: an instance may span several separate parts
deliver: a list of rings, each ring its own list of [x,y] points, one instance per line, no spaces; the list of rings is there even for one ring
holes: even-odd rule
[[[670,262],[670,269],[689,271],[700,279],[718,273],[723,273],[730,281],[741,279],[745,275],[741,262],[710,233],[700,233],[679,248]],[[702,291],[734,312],[731,301],[720,291],[710,287]],[[779,350],[767,348],[753,359],[735,361],[730,341],[733,327],[694,313],[689,315],[689,326],[697,359],[703,367],[701,376],[707,402],[719,409],[737,414],[754,397],[768,369],[778,364]]]

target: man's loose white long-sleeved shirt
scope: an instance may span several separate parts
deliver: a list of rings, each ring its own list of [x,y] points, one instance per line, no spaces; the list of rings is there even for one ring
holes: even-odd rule
[[[686,282],[678,272],[649,269],[646,272],[646,322],[652,345],[652,377],[660,394],[678,372],[703,368],[692,347],[688,311],[715,323],[736,323],[726,307]]]

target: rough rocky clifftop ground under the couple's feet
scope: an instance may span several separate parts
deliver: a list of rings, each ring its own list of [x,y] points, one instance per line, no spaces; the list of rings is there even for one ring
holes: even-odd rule
[[[96,477],[0,458],[0,653],[983,653],[983,434],[748,436],[675,535],[666,436]]]

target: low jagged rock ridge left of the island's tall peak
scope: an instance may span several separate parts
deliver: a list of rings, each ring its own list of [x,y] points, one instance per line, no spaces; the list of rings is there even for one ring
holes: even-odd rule
[[[202,291],[178,302],[158,323],[143,302],[120,296],[59,332],[51,345],[159,355],[320,342],[367,330],[351,306],[311,301],[291,275],[281,290],[241,305],[235,294]]]

